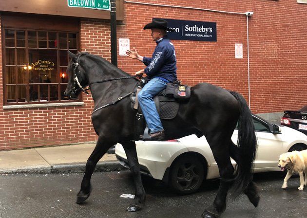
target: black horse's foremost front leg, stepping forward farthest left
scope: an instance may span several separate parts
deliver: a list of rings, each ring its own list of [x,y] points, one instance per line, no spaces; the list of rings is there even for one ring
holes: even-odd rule
[[[102,138],[98,138],[94,151],[86,162],[85,173],[81,182],[81,189],[77,194],[77,204],[84,202],[91,194],[91,177],[97,162],[112,146],[112,143],[106,144]]]

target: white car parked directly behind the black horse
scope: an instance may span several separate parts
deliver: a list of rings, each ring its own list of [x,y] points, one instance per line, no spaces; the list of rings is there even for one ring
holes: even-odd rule
[[[279,155],[307,149],[307,136],[293,128],[272,125],[253,115],[258,141],[254,172],[279,171]],[[231,137],[236,144],[238,130]],[[141,173],[168,182],[179,194],[195,192],[206,178],[219,178],[219,170],[206,138],[196,135],[171,141],[137,141]],[[129,168],[122,145],[115,146],[117,160]],[[235,161],[231,159],[233,165]]]

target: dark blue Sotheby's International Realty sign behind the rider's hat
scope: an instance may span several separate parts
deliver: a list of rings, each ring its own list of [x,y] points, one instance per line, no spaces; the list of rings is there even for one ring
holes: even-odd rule
[[[168,22],[168,27],[175,31],[167,33],[170,39],[216,42],[216,23],[214,22],[179,19],[165,20]]]

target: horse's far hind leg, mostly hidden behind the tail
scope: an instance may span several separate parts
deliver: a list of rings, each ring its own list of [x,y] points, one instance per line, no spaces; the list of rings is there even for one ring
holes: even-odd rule
[[[232,142],[230,143],[230,157],[237,163],[240,164],[239,158],[239,148],[234,145]],[[258,189],[255,182],[249,182],[248,187],[243,191],[244,194],[247,195],[249,201],[254,205],[254,207],[258,206],[260,196],[258,194]]]

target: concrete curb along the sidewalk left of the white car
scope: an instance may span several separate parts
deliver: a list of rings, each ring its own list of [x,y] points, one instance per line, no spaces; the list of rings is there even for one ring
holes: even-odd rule
[[[55,164],[30,166],[24,168],[0,169],[0,174],[28,173],[28,174],[51,174],[51,173],[84,173],[86,163]],[[94,172],[110,172],[127,170],[117,161],[97,163]]]

